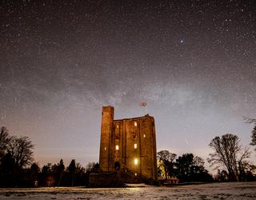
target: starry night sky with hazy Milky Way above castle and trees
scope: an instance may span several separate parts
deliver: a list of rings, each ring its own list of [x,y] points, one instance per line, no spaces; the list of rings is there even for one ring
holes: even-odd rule
[[[207,158],[226,133],[249,146],[255,14],[254,0],[1,0],[0,126],[41,166],[98,162],[107,105],[154,116],[158,150]]]

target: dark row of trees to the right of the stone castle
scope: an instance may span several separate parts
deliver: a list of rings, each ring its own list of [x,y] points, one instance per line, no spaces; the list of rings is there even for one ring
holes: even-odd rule
[[[256,146],[256,119],[244,118],[253,124],[250,145]],[[210,141],[207,162],[215,166],[218,174],[212,177],[204,168],[204,160],[194,154],[177,154],[168,150],[158,152],[158,175],[165,178],[178,178],[180,182],[212,182],[212,181],[256,181],[256,166],[250,160],[250,149],[242,148],[239,138],[234,134],[216,136]],[[256,149],[255,149],[256,151]]]

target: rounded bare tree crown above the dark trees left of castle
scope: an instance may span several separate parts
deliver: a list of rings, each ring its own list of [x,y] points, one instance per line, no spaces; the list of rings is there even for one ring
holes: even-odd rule
[[[33,148],[30,138],[26,136],[19,138],[12,136],[7,144],[8,153],[13,158],[14,164],[20,168],[26,167],[33,161]]]

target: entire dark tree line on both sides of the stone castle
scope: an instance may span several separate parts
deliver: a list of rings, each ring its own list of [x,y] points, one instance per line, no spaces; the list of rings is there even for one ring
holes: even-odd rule
[[[256,119],[245,118],[253,124],[250,145],[256,146]],[[180,182],[255,181],[256,166],[250,160],[249,148],[242,148],[234,134],[216,136],[210,141],[213,153],[207,162],[215,166],[218,174],[212,177],[205,169],[205,161],[194,154],[158,152],[158,175],[166,180],[178,178]],[[6,127],[0,129],[0,186],[86,186],[89,175],[100,171],[98,163],[86,167],[75,160],[64,166],[63,160],[42,166],[34,162],[34,145],[26,136],[12,136]],[[256,149],[255,149],[256,151]]]

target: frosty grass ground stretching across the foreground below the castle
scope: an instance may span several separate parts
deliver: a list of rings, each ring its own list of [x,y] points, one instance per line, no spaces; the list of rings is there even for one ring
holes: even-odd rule
[[[256,182],[130,188],[2,188],[0,199],[256,199]]]

